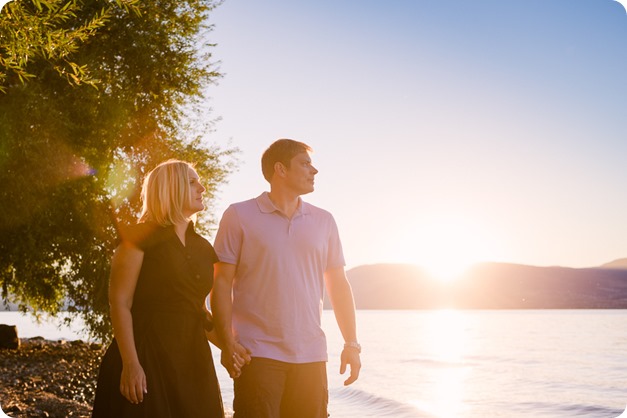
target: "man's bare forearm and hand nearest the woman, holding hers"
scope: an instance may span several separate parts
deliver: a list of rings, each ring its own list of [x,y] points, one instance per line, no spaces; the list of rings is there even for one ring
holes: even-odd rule
[[[228,263],[214,264],[213,290],[211,291],[211,311],[214,327],[222,344],[221,363],[232,378],[239,377],[237,367],[242,359],[250,361],[245,348],[235,342],[232,330],[233,315],[233,279],[237,266]]]

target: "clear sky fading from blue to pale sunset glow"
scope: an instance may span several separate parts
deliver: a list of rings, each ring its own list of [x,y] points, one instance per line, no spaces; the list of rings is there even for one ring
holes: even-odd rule
[[[347,267],[627,257],[627,13],[614,0],[226,0],[209,140],[268,190],[293,138]],[[229,142],[230,141],[230,142]]]

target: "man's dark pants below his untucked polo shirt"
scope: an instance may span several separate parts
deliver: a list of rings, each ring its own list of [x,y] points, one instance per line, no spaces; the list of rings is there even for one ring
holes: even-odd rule
[[[255,357],[235,379],[233,418],[327,418],[327,365]]]

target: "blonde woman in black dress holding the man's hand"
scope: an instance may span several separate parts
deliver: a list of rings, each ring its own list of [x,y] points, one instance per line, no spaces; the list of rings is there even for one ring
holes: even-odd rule
[[[144,180],[140,221],[121,231],[111,262],[114,340],[93,418],[224,417],[205,305],[218,259],[192,222],[205,190],[193,167],[177,160]],[[233,361],[239,370],[245,359]]]

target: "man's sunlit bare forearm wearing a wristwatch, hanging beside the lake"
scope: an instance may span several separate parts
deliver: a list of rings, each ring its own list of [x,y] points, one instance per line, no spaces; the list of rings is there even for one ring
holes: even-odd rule
[[[353,291],[346,278],[344,267],[327,270],[324,273],[325,284],[329,300],[335,312],[335,319],[340,327],[342,336],[346,343],[353,343],[355,346],[345,345],[342,350],[340,374],[344,374],[346,366],[350,366],[350,376],[344,381],[344,385],[350,385],[359,378],[361,369],[360,349],[357,343],[357,324],[355,321],[355,302]]]

